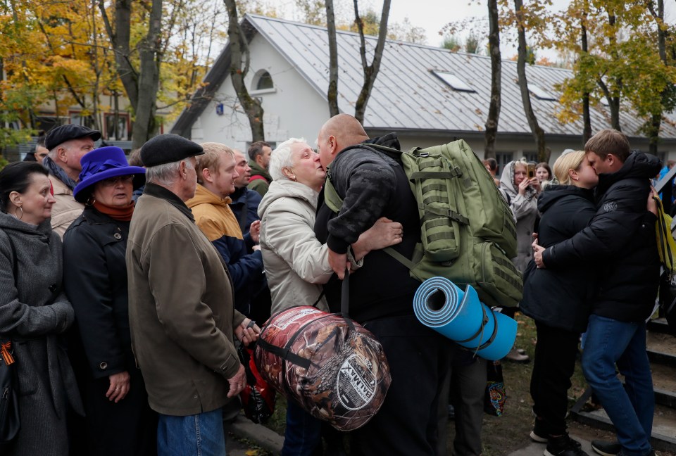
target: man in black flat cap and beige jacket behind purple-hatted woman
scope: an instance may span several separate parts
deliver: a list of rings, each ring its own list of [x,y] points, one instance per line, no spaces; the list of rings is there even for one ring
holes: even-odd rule
[[[49,170],[49,179],[54,190],[56,203],[51,208],[51,228],[61,236],[73,221],[80,217],[84,204],[73,198],[73,189],[82,171],[80,158],[94,150],[94,141],[101,138],[101,132],[82,125],[61,125],[51,129],[44,139],[49,155],[43,164]]]

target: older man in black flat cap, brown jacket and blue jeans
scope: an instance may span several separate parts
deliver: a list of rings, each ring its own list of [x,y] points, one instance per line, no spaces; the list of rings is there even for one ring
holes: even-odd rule
[[[127,243],[132,348],[159,414],[158,455],[225,455],[222,407],[246,383],[233,334],[260,329],[233,308],[220,254],[184,201],[201,146],[175,134],[144,144],[146,186]]]

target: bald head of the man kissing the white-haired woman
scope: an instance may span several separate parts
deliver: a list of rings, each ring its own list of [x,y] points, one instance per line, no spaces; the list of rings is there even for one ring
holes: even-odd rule
[[[327,120],[319,130],[317,146],[324,169],[344,148],[360,144],[368,139],[361,123],[349,114],[338,114]]]

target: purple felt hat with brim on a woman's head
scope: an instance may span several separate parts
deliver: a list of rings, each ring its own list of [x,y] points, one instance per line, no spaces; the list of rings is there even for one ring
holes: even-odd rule
[[[80,182],[73,190],[76,201],[85,203],[92,193],[92,185],[108,177],[134,175],[134,190],[146,183],[146,170],[140,166],[130,166],[125,151],[119,147],[99,147],[85,154],[80,160],[82,172]]]

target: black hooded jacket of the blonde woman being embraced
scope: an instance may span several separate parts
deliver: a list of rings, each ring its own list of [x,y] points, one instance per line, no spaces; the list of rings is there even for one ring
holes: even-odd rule
[[[596,213],[594,192],[572,185],[552,185],[540,194],[537,209],[542,213],[538,242],[543,247],[570,239],[589,225]],[[596,265],[585,262],[561,270],[527,267],[521,311],[550,327],[583,332],[596,286]]]

